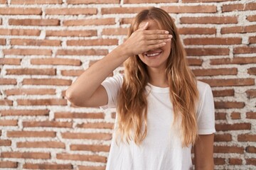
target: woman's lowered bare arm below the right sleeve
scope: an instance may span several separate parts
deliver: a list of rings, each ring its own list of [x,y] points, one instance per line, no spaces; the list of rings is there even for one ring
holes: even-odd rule
[[[194,145],[194,161],[196,170],[213,170],[214,134],[199,135]]]

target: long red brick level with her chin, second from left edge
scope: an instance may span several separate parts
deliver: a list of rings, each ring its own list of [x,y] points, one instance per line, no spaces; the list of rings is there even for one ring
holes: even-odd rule
[[[45,65],[74,65],[80,66],[82,62],[76,59],[64,59],[64,58],[42,58],[42,59],[31,59],[31,64],[45,64]]]

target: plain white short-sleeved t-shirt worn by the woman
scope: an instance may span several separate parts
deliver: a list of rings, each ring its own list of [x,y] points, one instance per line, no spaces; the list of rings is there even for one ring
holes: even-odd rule
[[[122,86],[123,76],[117,74],[102,82],[108,96],[108,108],[117,106],[117,94]],[[200,94],[197,106],[198,134],[215,132],[213,94],[210,86],[202,81],[197,83]],[[141,145],[133,141],[116,143],[113,133],[107,170],[188,170],[192,169],[191,145],[182,147],[181,128],[172,125],[173,107],[169,88],[149,84],[146,86],[148,112],[147,133]],[[118,116],[118,114],[117,114]],[[117,119],[115,121],[117,128]]]

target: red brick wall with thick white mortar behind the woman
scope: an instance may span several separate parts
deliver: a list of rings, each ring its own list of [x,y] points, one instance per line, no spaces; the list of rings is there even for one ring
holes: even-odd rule
[[[255,0],[0,0],[0,169],[105,169],[114,110],[70,106],[65,89],[148,6],[213,89],[215,169],[256,168]]]

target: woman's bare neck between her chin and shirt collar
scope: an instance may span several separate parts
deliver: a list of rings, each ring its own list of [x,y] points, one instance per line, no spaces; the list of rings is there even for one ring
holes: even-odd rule
[[[168,87],[165,69],[148,68],[149,83],[153,86]]]

